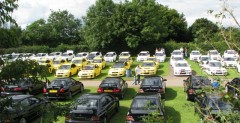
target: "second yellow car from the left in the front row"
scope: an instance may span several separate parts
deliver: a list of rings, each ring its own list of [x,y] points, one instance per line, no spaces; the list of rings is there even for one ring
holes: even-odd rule
[[[78,73],[78,78],[95,78],[101,74],[101,68],[96,64],[88,64]]]

